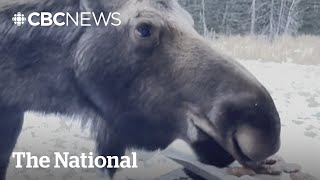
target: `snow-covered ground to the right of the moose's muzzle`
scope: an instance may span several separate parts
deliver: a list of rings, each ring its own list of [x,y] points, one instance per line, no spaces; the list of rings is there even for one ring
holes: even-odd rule
[[[320,66],[242,63],[275,100],[282,120],[281,156],[320,179]]]

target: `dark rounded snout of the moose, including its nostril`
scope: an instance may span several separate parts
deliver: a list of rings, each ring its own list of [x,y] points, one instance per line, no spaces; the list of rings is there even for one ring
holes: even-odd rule
[[[209,113],[218,134],[227,137],[230,154],[246,164],[261,162],[278,152],[280,117],[270,95],[262,89],[232,97],[236,98],[225,98]]]

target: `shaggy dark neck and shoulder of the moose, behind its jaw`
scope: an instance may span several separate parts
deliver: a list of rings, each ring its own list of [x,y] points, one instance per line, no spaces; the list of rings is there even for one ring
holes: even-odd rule
[[[6,92],[1,101],[24,110],[64,114],[89,106],[74,84],[72,70],[72,52],[85,28],[33,27],[27,23],[18,27],[11,20],[17,10],[25,14],[73,13],[79,12],[80,6],[75,0],[39,1],[7,6],[0,11],[0,72],[6,77],[1,79],[6,84],[0,86],[0,91]],[[10,88],[14,91],[7,91]]]

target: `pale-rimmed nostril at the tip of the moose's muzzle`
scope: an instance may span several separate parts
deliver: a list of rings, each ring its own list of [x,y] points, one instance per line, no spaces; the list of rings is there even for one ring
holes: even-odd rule
[[[235,139],[243,155],[253,161],[262,161],[275,154],[280,143],[275,137],[267,137],[264,133],[250,126],[242,126],[237,130]]]

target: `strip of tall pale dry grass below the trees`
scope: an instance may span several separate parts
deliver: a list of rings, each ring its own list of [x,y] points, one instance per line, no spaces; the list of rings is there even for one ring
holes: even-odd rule
[[[216,50],[237,59],[320,65],[320,36],[222,36],[212,40]]]

